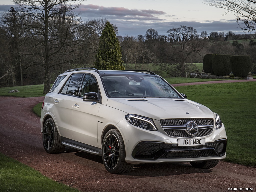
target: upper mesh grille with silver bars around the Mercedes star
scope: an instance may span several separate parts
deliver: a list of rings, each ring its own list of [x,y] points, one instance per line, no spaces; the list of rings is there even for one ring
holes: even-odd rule
[[[191,135],[187,131],[187,123],[193,121],[198,126],[196,134]],[[192,137],[204,137],[210,135],[213,130],[213,119],[161,119],[161,126],[164,131],[172,137],[192,138]]]

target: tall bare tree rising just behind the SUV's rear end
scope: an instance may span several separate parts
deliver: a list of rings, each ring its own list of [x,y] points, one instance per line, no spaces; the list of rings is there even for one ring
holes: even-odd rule
[[[51,70],[54,66],[77,59],[75,51],[83,38],[79,14],[73,12],[83,0],[13,0],[19,11],[33,22],[25,24],[30,28],[37,65],[44,67],[44,93],[50,90]],[[71,3],[78,2],[73,5]],[[56,24],[59,26],[56,26]],[[65,55],[64,55],[65,53]],[[65,56],[65,58],[60,57]],[[67,55],[69,57],[67,57]]]

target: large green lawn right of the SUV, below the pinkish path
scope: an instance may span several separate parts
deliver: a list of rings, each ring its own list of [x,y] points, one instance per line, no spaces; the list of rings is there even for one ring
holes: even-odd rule
[[[175,87],[188,99],[218,113],[226,127],[226,161],[256,167],[256,83],[220,83]]]

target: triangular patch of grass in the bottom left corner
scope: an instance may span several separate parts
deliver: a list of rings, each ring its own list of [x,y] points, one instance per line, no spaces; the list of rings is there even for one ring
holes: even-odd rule
[[[0,153],[1,192],[78,192],[55,182],[33,168]]]

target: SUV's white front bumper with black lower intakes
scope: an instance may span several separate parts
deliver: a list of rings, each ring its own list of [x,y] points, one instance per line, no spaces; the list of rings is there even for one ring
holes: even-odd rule
[[[168,135],[155,121],[158,131],[148,131],[135,127],[126,120],[117,126],[123,136],[126,162],[131,164],[162,162],[195,162],[220,160],[226,157],[227,135],[225,126],[204,137],[205,145],[178,146],[178,137]],[[182,138],[182,137],[181,137]]]

